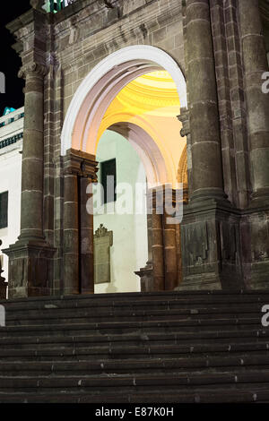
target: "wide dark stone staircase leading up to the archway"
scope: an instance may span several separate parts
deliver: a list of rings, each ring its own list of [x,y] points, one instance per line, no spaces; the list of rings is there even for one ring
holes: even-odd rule
[[[0,304],[0,403],[269,402],[269,292]]]

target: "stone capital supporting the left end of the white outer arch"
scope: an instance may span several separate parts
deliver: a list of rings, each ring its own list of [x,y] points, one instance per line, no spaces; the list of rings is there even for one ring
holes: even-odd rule
[[[64,174],[91,178],[92,182],[97,181],[98,162],[95,156],[81,150],[67,150],[64,157]]]

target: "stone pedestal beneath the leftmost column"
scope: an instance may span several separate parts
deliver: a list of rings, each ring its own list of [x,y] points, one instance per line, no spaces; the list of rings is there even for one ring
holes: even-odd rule
[[[9,298],[50,296],[53,291],[55,248],[45,241],[19,240],[3,253],[9,257]]]

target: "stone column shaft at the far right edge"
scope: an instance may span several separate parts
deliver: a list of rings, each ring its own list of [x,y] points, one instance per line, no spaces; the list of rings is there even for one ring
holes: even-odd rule
[[[258,0],[239,0],[238,7],[255,206],[269,204],[269,95],[262,91],[268,63]]]

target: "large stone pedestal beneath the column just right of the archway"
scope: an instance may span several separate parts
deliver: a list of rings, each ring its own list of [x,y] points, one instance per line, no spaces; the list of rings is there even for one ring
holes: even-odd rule
[[[184,207],[180,290],[244,288],[239,222],[239,211],[225,200],[191,202]]]

